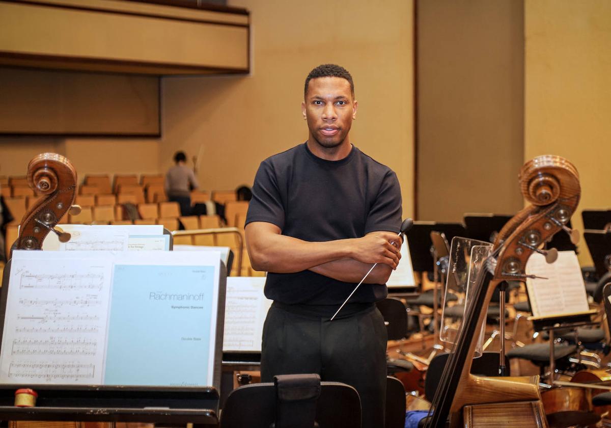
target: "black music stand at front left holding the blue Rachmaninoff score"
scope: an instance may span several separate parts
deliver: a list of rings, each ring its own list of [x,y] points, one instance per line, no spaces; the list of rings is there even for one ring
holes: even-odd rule
[[[9,293],[11,260],[4,267],[0,290],[0,343]],[[211,386],[0,385],[0,421],[97,421],[192,423],[218,426],[221,353],[227,269],[221,261]],[[15,391],[34,388],[36,407],[15,407]]]

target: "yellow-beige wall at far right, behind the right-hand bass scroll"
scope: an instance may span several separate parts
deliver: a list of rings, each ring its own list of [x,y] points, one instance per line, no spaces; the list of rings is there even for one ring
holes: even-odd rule
[[[579,171],[580,210],[611,207],[611,2],[526,0],[525,39],[525,158],[566,157]]]

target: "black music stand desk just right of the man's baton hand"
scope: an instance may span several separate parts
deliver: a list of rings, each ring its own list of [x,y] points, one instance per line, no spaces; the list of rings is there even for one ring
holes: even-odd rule
[[[437,223],[435,221],[414,221],[414,226],[406,232],[409,254],[415,272],[433,272],[431,256],[431,232],[443,232],[448,242],[455,236],[464,237],[467,233],[463,223]]]

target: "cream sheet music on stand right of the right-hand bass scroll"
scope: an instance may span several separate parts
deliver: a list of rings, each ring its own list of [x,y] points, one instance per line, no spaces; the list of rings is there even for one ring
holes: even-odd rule
[[[590,309],[584,278],[574,251],[559,251],[558,259],[547,264],[542,254],[532,254],[526,264],[530,306],[535,317],[574,314]]]

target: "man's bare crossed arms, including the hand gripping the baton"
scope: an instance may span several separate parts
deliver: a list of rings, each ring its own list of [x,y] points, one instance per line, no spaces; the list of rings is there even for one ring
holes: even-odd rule
[[[392,242],[395,245],[392,245]],[[402,238],[393,232],[371,232],[362,238],[307,242],[282,235],[272,223],[246,225],[246,248],[255,270],[293,273],[311,270],[345,282],[385,284],[401,259]]]

